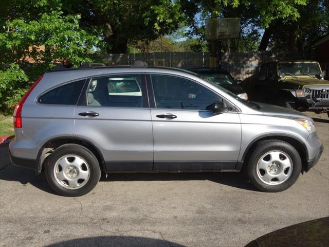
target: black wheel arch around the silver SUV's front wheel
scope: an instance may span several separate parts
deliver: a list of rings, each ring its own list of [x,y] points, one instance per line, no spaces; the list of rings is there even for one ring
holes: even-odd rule
[[[288,135],[288,134],[266,134],[259,137],[256,137],[249,143],[247,148],[245,149],[241,161],[237,163],[236,170],[241,170],[244,164],[247,164],[250,158],[250,155],[253,151],[253,147],[257,145],[258,142],[262,140],[282,140],[284,142],[289,143],[291,146],[296,148],[298,151],[301,160],[302,160],[302,173],[307,169],[307,160],[308,160],[308,153],[306,145],[302,142],[302,140],[296,138],[295,136]]]

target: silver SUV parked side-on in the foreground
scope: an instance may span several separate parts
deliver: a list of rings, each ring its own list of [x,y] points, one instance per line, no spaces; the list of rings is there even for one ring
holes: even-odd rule
[[[64,196],[89,192],[101,172],[242,169],[255,188],[277,192],[323,150],[302,113],[142,62],[45,73],[17,105],[14,127],[12,163],[45,172]]]

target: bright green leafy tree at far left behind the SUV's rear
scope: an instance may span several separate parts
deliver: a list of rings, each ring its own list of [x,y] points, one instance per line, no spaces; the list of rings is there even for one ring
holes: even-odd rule
[[[25,9],[26,6],[26,9]],[[64,58],[89,60],[100,40],[64,15],[59,1],[8,1],[0,17],[0,108],[12,108],[30,83]]]

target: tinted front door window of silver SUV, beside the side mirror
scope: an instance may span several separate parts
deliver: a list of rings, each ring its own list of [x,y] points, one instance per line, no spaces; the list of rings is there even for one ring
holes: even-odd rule
[[[206,87],[190,80],[152,75],[157,108],[206,110],[206,107],[222,98]]]

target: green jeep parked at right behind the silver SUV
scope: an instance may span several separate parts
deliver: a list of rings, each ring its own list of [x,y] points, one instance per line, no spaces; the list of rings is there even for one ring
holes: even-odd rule
[[[315,61],[279,61],[262,65],[254,99],[316,113],[329,111],[329,81]],[[329,113],[328,113],[329,116]]]

